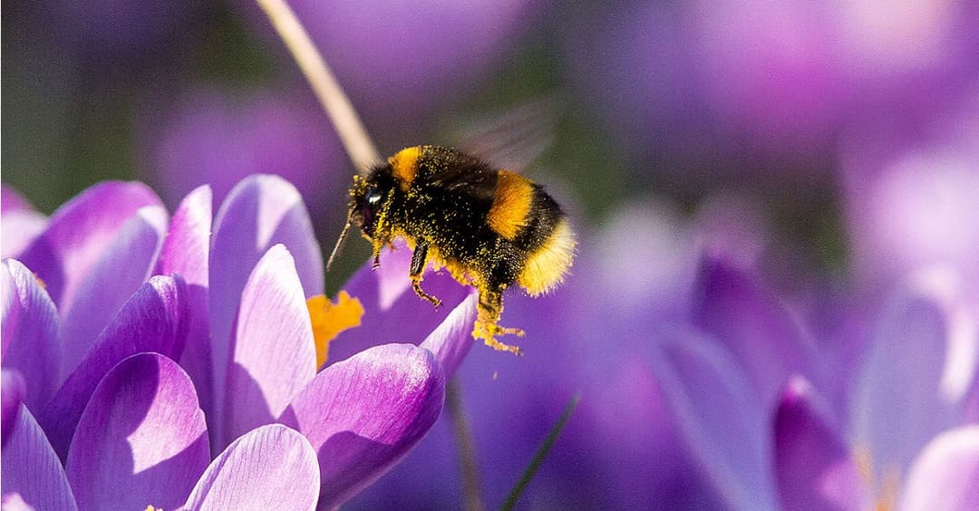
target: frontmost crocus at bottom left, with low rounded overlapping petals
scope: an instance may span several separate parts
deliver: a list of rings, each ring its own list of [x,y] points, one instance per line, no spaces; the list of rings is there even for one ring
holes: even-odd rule
[[[119,362],[85,408],[62,468],[22,407],[3,450],[3,493],[37,509],[175,509],[266,504],[313,509],[312,446],[281,425],[249,432],[210,461],[204,413],[186,373],[159,353]],[[210,463],[210,466],[209,466]]]

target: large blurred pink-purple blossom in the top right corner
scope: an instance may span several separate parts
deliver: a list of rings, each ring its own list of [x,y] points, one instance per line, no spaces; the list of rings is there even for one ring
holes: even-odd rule
[[[800,157],[817,160],[862,116],[928,112],[973,86],[974,3],[881,9],[803,1],[603,5],[570,15],[578,23],[563,25],[564,55],[569,76],[595,99],[585,103],[600,106],[595,114],[631,154],[666,157],[643,168],[716,173],[768,164],[788,177],[813,167]],[[575,18],[582,15],[587,24]],[[738,160],[719,168],[723,155]],[[795,163],[771,165],[771,155]]]

